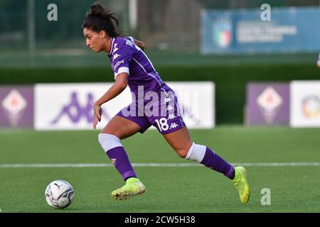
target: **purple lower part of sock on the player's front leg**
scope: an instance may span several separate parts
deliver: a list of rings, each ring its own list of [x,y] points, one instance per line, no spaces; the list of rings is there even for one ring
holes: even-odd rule
[[[123,147],[112,148],[107,151],[107,155],[124,180],[129,177],[137,177]]]

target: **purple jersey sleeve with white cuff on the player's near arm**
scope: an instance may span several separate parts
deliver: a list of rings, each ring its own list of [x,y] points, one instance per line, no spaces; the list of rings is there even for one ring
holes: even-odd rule
[[[116,44],[112,52],[112,69],[114,70],[114,79],[122,72],[130,74],[129,65],[132,61],[134,48],[133,43],[130,40],[126,41],[127,42],[122,45]]]

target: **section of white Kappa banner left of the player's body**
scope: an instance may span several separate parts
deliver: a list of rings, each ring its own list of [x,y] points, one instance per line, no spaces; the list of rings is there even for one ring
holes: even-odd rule
[[[36,84],[34,128],[36,130],[73,130],[92,128],[93,104],[112,83],[97,84]],[[131,102],[129,88],[103,107],[105,124]]]

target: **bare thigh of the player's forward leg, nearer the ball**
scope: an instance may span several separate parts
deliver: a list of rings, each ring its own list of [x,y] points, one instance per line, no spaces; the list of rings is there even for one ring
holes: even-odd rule
[[[101,133],[117,136],[120,140],[127,138],[141,131],[140,126],[122,116],[114,116]]]

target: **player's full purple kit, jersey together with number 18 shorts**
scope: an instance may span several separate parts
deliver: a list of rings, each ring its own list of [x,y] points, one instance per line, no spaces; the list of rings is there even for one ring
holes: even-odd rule
[[[186,126],[174,91],[162,82],[149,58],[134,44],[132,37],[113,38],[109,57],[114,79],[122,72],[129,74],[128,85],[135,96],[132,96],[132,104],[124,107],[117,116],[137,123],[141,133],[152,125],[162,134],[172,133]],[[156,97],[146,99],[147,95],[144,94],[147,93],[156,94]],[[142,103],[139,98],[143,98]]]

